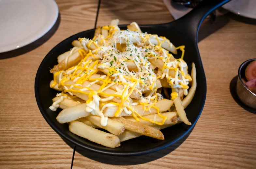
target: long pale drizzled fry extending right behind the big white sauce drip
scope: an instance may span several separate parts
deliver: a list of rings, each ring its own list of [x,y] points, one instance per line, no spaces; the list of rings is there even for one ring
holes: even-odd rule
[[[171,106],[173,105],[173,101],[172,100],[168,100],[168,99],[162,99],[162,100],[158,100],[158,102],[155,104],[156,107],[159,108],[159,112],[163,112],[166,110],[169,110],[171,108]],[[145,116],[148,114],[155,114],[157,113],[157,110],[154,108],[151,108],[150,111],[144,111],[143,109],[143,105],[135,105],[133,106],[134,110],[137,111],[141,116]],[[118,110],[118,107],[107,107],[106,109],[104,109],[103,113],[106,117],[114,117],[115,112]],[[131,116],[126,114],[124,111],[120,114],[120,117],[122,116]]]

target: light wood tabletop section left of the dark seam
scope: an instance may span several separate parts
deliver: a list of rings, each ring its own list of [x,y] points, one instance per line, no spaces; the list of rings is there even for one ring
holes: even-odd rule
[[[1,169],[70,168],[73,146],[69,147],[41,115],[34,93],[35,76],[55,45],[94,28],[98,1],[59,0],[57,4],[60,16],[50,32],[21,49],[0,53]]]

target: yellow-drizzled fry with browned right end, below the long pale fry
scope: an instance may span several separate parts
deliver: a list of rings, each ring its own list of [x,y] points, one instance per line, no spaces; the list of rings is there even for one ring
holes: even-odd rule
[[[176,118],[176,116],[178,116],[177,112],[165,112],[165,113],[162,113],[161,115],[167,117],[166,121],[164,122],[164,125],[166,125],[166,124],[173,124],[174,125],[174,124],[177,123],[177,118]],[[150,115],[146,115],[146,116],[143,116],[143,117],[147,118],[147,119],[154,120],[155,122],[158,122],[158,123],[161,123],[162,120],[163,120],[157,114],[150,114]],[[132,121],[132,122],[136,122],[136,123],[140,123],[140,124],[144,124],[144,125],[149,125],[149,126],[157,125],[157,124],[151,123],[149,121],[142,120],[141,118],[139,118],[140,119],[139,122],[137,122],[133,117],[125,117],[125,118],[127,120]]]

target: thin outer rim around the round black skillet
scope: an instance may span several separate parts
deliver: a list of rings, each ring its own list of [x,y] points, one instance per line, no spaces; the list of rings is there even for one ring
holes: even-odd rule
[[[164,24],[157,24],[157,25],[164,25]],[[127,25],[119,25],[119,26],[127,26]],[[140,25],[140,27],[150,27],[152,25]],[[198,110],[198,116],[195,119],[195,123],[193,123],[192,125],[189,126],[189,129],[184,132],[183,134],[179,135],[176,139],[169,141],[168,143],[165,143],[161,146],[152,148],[152,149],[146,149],[146,150],[142,150],[142,151],[138,151],[138,152],[110,152],[108,150],[102,150],[102,149],[95,149],[89,145],[86,144],[82,144],[79,140],[73,138],[72,136],[69,136],[68,134],[66,134],[65,131],[63,131],[62,129],[60,129],[58,126],[56,126],[54,124],[54,122],[51,120],[50,117],[47,116],[47,112],[44,112],[44,108],[43,106],[40,104],[40,97],[39,97],[39,90],[38,90],[38,84],[39,84],[39,72],[41,72],[41,69],[43,68],[43,65],[45,63],[45,61],[47,61],[48,58],[46,58],[49,54],[53,53],[53,51],[55,50],[55,48],[64,43],[64,41],[68,40],[69,38],[72,38],[73,36],[77,36],[80,33],[86,33],[89,31],[95,31],[95,28],[90,29],[90,30],[86,30],[86,31],[82,31],[82,32],[78,32],[74,35],[69,36],[68,38],[64,39],[63,41],[61,41],[60,43],[58,43],[57,45],[55,45],[48,53],[47,55],[44,57],[44,59],[42,60],[42,62],[40,63],[39,67],[38,67],[38,71],[36,74],[36,78],[35,78],[35,97],[36,97],[36,101],[37,101],[37,105],[38,108],[42,114],[42,116],[44,117],[45,121],[51,126],[51,128],[62,138],[64,138],[65,140],[67,140],[68,142],[72,143],[75,146],[79,146],[83,149],[89,150],[89,151],[93,151],[93,152],[97,152],[100,154],[104,154],[104,155],[110,155],[110,156],[122,156],[122,157],[128,157],[128,156],[138,156],[138,155],[145,155],[145,154],[149,154],[149,153],[153,153],[156,152],[158,150],[164,149],[174,143],[176,143],[178,140],[182,139],[184,136],[186,136],[195,126],[195,124],[197,123],[199,117],[202,114],[203,108],[204,108],[204,104],[205,104],[205,100],[206,100],[206,90],[207,90],[207,85],[206,85],[206,79],[205,79],[205,95],[203,96],[203,104],[202,104],[202,108]],[[199,53],[199,49],[198,49],[198,45],[197,46],[197,51]],[[202,61],[201,61],[202,63]],[[203,68],[203,65],[202,65]]]

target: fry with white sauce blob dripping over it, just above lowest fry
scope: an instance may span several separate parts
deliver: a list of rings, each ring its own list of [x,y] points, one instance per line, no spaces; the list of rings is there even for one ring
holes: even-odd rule
[[[94,125],[97,125],[98,127],[103,128],[114,135],[120,135],[125,131],[124,124],[114,121],[110,118],[108,118],[108,123],[106,126],[102,126],[100,124],[101,117],[99,117],[99,116],[91,115],[91,116],[86,117],[86,119],[89,120],[90,122],[92,122]]]

